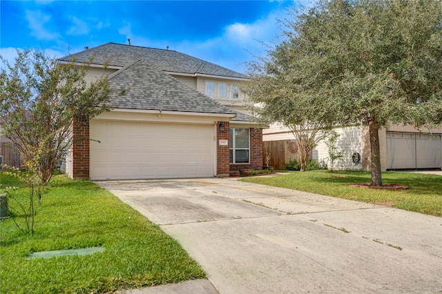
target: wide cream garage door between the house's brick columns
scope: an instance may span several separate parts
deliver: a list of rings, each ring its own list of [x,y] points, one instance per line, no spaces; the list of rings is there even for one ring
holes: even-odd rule
[[[90,179],[213,177],[213,126],[91,121]]]

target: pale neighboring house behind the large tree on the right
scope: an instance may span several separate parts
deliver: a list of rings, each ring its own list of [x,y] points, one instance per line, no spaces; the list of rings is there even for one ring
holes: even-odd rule
[[[349,126],[335,129],[340,137],[336,146],[343,157],[334,162],[333,168],[343,170],[369,170],[370,145],[368,128]],[[293,140],[294,135],[288,128],[276,124],[263,131],[262,140]],[[391,125],[379,130],[382,170],[401,169],[442,169],[442,128],[422,131],[411,126]],[[264,153],[269,152],[265,150]],[[311,153],[311,158],[324,161],[328,166],[329,153],[325,141],[320,141]]]

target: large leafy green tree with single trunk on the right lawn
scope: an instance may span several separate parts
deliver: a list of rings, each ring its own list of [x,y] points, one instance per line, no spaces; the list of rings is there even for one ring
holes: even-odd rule
[[[331,0],[292,12],[284,41],[249,64],[256,112],[287,126],[367,126],[370,184],[381,186],[378,130],[442,122],[442,1]]]

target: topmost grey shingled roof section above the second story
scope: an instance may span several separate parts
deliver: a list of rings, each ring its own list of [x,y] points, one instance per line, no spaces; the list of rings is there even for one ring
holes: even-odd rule
[[[216,64],[191,57],[175,50],[163,50],[140,46],[129,46],[117,43],[106,43],[101,46],[90,48],[73,55],[62,57],[61,61],[88,62],[93,58],[95,64],[109,66],[128,66],[134,60],[141,60],[156,66],[159,70],[184,74],[218,75],[220,77],[233,77],[245,79],[240,72],[229,70]]]

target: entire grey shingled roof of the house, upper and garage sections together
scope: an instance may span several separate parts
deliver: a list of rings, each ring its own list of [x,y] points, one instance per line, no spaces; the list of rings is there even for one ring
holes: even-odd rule
[[[239,72],[185,55],[173,50],[162,50],[117,43],[106,43],[59,61],[86,63],[120,68],[109,77],[114,93],[128,88],[123,96],[114,94],[111,105],[115,108],[140,110],[169,110],[180,112],[204,112],[231,115],[237,112],[207,97],[198,90],[175,79],[170,72],[186,75],[212,75],[224,78],[245,78]],[[168,73],[169,72],[169,73]],[[240,120],[245,119],[240,115]]]

